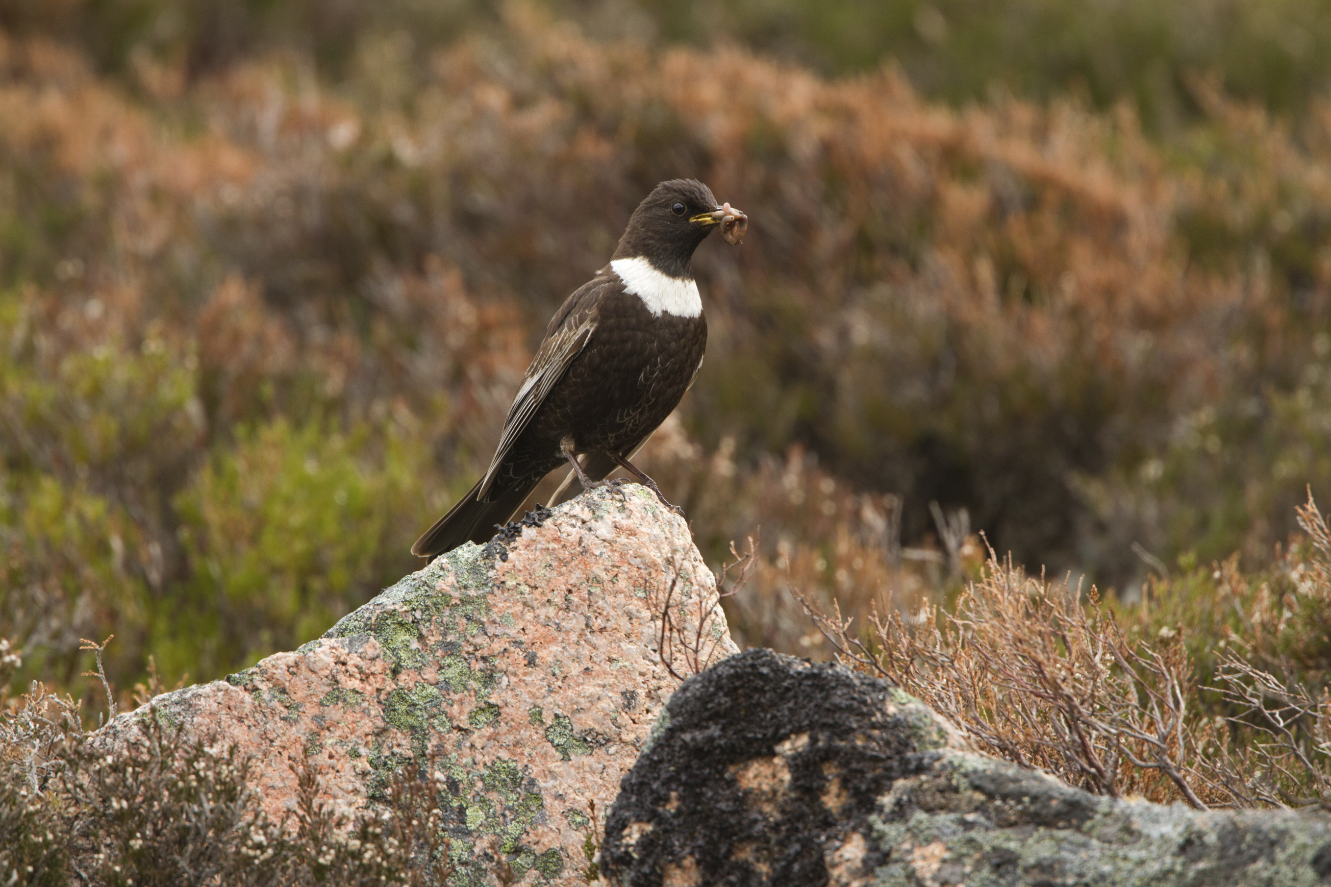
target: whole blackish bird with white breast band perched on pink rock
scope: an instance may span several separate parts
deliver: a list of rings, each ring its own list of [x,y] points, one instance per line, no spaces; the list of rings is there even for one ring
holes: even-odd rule
[[[486,476],[417,540],[413,555],[488,540],[566,461],[583,488],[619,465],[675,508],[628,459],[703,366],[707,319],[689,262],[713,227],[739,243],[748,218],[693,180],[662,182],[638,205],[610,265],[551,318]]]

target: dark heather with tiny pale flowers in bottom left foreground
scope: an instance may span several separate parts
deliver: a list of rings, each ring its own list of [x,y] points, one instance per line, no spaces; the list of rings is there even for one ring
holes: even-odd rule
[[[395,774],[382,809],[353,822],[302,761],[293,807],[274,822],[234,746],[189,742],[144,711],[141,738],[118,749],[83,731],[68,697],[35,690],[0,715],[7,883],[414,887],[453,872],[437,785],[445,778],[433,766]],[[498,854],[488,859],[502,867]]]

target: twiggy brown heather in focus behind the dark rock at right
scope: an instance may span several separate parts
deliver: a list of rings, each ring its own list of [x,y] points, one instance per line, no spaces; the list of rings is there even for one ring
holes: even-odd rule
[[[1299,521],[1311,543],[1259,589],[1233,569],[1207,589],[1225,612],[1201,646],[1149,604],[1115,612],[1094,588],[1083,604],[1082,589],[996,557],[948,609],[874,614],[864,636],[801,604],[840,661],[924,699],[989,754],[1115,798],[1327,809],[1331,529],[1312,501]]]

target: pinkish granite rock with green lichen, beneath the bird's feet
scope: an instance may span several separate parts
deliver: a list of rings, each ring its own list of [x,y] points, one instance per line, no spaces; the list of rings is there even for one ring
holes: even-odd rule
[[[449,552],[293,653],[153,706],[252,755],[274,818],[293,807],[303,762],[354,815],[427,761],[451,883],[484,883],[498,847],[528,880],[580,884],[574,823],[590,801],[610,807],[677,685],[658,653],[659,592],[675,580],[715,600],[684,521],[640,487],[596,489],[520,535]],[[696,608],[683,602],[675,618],[688,624]],[[735,653],[720,609],[709,618],[717,656]],[[102,741],[134,725],[122,715]]]

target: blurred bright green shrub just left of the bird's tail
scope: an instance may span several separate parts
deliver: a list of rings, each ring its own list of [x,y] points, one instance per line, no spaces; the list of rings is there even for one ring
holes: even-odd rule
[[[411,508],[419,445],[284,419],[241,432],[180,493],[194,578],[165,604],[153,649],[169,674],[240,670],[321,636],[410,569],[390,545]]]

